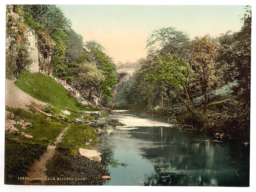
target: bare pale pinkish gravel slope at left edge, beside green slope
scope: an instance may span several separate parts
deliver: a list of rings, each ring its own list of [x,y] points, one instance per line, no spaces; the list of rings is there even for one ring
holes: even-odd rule
[[[12,80],[5,80],[5,106],[13,108],[27,109],[26,105],[31,105],[31,102],[37,105],[46,105],[42,101],[39,101],[13,84]]]

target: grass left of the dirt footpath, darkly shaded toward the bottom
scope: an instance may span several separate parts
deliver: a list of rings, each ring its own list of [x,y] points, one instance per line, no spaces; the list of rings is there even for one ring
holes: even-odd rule
[[[23,184],[17,177],[27,176],[27,171],[33,162],[40,158],[48,144],[54,142],[68,124],[40,112],[30,113],[24,109],[8,107],[6,110],[13,112],[15,117],[18,116],[14,120],[23,119],[31,123],[26,129],[22,129],[21,125],[15,125],[20,132],[32,135],[31,139],[5,133],[5,184]]]

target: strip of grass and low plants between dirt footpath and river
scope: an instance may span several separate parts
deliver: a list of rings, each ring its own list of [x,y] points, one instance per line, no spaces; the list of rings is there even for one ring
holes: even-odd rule
[[[92,139],[90,145],[85,143]],[[109,175],[105,166],[84,157],[77,157],[79,148],[92,149],[99,142],[98,133],[86,124],[72,125],[47,163],[47,177],[70,177],[82,180],[47,180],[47,185],[102,185],[101,176]],[[82,165],[82,166],[81,166]]]

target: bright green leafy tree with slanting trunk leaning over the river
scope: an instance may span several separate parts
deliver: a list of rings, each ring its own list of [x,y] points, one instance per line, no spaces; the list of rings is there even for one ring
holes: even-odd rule
[[[191,78],[193,74],[192,66],[193,63],[188,63],[178,55],[157,56],[155,60],[152,60],[152,66],[145,69],[147,71],[145,79],[150,80],[152,84],[161,83],[167,86],[178,96],[188,110],[195,114],[191,108],[188,94],[189,82],[193,80]]]

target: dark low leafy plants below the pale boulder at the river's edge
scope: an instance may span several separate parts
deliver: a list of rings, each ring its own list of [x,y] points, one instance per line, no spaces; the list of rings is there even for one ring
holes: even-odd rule
[[[101,163],[70,156],[68,151],[61,148],[57,149],[46,168],[47,177],[55,177],[55,180],[46,180],[46,185],[102,185],[105,182],[102,176],[109,176],[108,170]],[[73,179],[57,180],[64,177]]]

